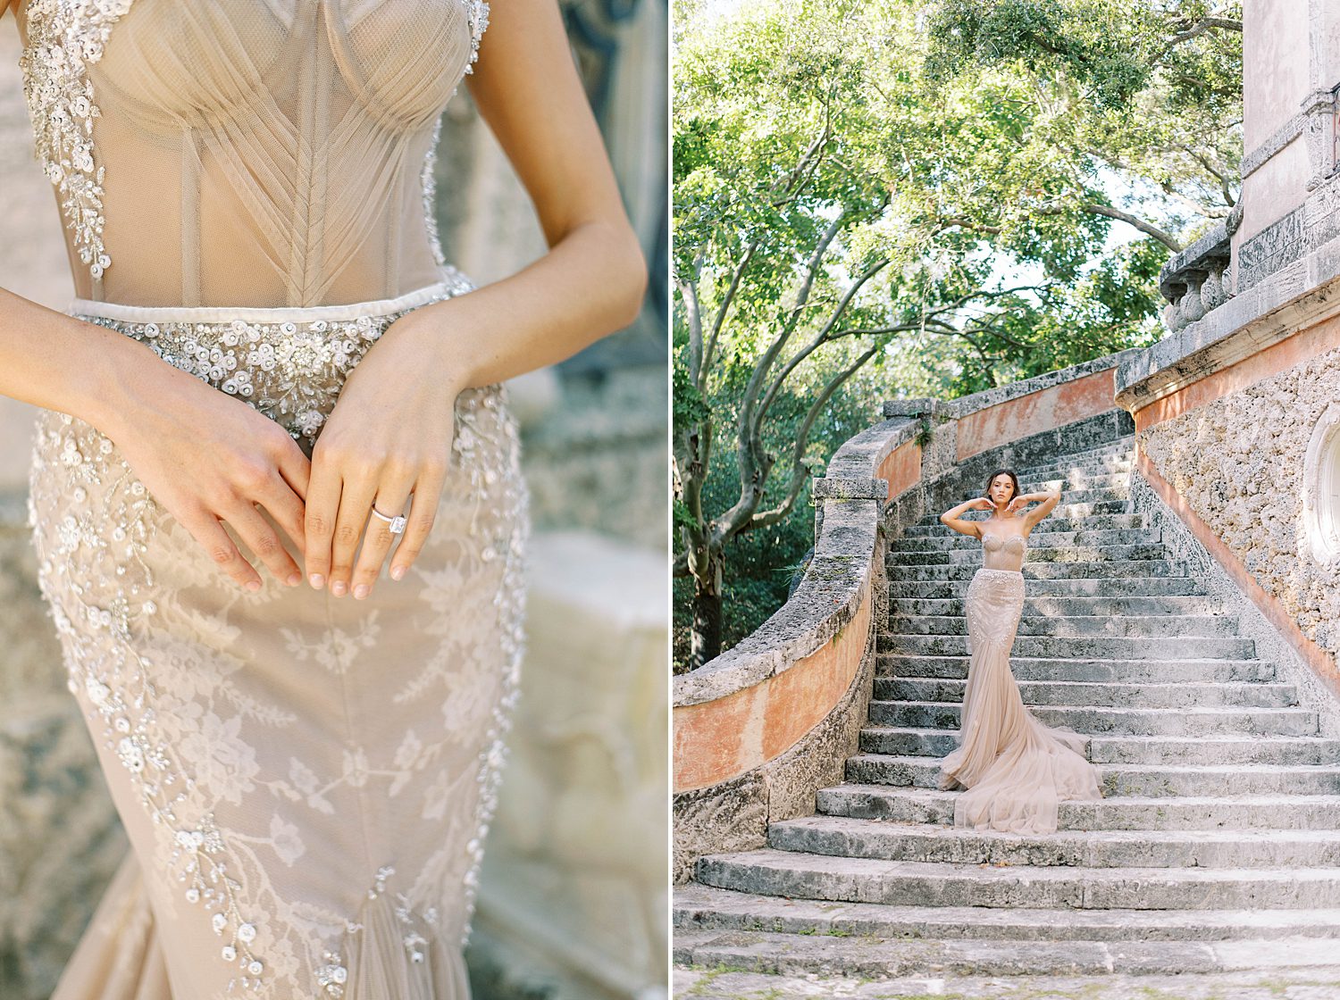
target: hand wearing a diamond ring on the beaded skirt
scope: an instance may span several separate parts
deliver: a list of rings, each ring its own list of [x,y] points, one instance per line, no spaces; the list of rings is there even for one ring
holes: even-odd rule
[[[374,506],[395,517],[414,495],[393,580],[409,570],[433,529],[468,373],[442,356],[441,324],[421,312],[391,323],[363,355],[312,448],[306,569],[314,588],[328,581],[335,597],[347,590],[367,597],[381,576],[395,535],[389,521],[373,515]],[[434,320],[440,315],[434,311]]]

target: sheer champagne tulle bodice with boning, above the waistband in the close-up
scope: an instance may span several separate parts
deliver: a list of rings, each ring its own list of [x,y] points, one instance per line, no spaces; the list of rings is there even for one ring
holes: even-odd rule
[[[29,0],[25,90],[80,299],[394,299],[442,262],[436,124],[481,0]]]

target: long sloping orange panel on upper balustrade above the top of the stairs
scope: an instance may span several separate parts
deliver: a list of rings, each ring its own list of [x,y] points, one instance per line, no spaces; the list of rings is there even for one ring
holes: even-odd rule
[[[1012,440],[1095,416],[1116,406],[1116,368],[1006,399],[958,420],[958,462]]]

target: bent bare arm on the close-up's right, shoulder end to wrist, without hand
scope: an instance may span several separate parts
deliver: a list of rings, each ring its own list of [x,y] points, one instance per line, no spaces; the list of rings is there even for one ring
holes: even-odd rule
[[[458,390],[571,357],[632,323],[647,286],[556,0],[493,4],[465,80],[531,195],[549,252],[511,277],[415,309],[386,332],[421,331],[437,351],[436,371]]]

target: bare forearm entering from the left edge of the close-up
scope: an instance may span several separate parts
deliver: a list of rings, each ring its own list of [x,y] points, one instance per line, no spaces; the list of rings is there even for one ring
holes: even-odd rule
[[[110,432],[161,359],[146,344],[0,288],[0,394]]]

